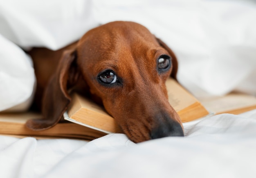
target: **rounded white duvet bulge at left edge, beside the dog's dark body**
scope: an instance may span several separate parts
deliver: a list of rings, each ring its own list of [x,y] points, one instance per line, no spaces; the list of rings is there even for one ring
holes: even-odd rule
[[[0,35],[0,111],[26,110],[35,84],[31,58],[16,44]]]

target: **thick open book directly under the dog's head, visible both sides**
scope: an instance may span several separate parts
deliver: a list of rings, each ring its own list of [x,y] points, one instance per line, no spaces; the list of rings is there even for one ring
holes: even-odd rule
[[[168,100],[177,111],[182,122],[189,122],[204,116],[209,112],[202,104],[186,91],[176,80],[168,78],[166,81]],[[102,131],[103,133],[121,133],[120,127],[103,107],[88,98],[74,93],[72,103],[65,116],[66,120]]]

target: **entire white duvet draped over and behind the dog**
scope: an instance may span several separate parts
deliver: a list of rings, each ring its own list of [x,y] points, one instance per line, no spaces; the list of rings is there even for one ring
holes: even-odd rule
[[[32,94],[33,69],[19,47],[56,50],[114,20],[139,22],[164,40],[195,96],[256,93],[254,0],[0,0],[0,111]]]

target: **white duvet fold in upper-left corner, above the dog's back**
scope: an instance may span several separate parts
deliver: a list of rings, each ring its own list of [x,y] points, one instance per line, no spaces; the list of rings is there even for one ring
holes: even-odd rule
[[[57,50],[99,23],[90,0],[0,1],[0,33],[22,48]]]

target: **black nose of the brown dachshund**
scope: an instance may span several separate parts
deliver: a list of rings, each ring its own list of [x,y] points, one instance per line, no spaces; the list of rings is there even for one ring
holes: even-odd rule
[[[168,136],[184,136],[183,129],[177,121],[160,122],[157,127],[152,129],[150,134],[151,139]]]

